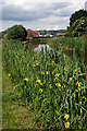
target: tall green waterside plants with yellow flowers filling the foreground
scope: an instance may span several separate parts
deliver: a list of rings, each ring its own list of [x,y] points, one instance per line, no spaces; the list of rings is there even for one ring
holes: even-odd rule
[[[63,52],[3,43],[3,67],[40,129],[86,129],[86,70]]]

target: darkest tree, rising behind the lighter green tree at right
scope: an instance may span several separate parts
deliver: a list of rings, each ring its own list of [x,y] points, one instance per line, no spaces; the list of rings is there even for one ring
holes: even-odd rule
[[[75,13],[73,13],[70,17],[70,26],[73,25],[73,23],[77,20],[77,19],[80,19],[80,17],[87,17],[87,11],[86,10],[79,10],[79,11],[76,11]]]

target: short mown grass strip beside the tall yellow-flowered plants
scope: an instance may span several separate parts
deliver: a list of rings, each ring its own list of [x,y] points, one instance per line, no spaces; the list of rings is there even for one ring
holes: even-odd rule
[[[34,121],[28,107],[25,107],[20,93],[11,79],[2,71],[2,129],[32,129]]]

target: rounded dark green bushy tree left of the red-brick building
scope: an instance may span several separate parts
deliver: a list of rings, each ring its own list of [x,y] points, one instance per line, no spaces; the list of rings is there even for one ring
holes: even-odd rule
[[[8,39],[20,39],[24,40],[27,36],[27,31],[22,25],[12,26],[7,34]]]

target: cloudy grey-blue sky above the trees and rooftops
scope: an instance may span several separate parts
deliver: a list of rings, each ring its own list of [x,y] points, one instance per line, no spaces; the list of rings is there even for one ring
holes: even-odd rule
[[[0,31],[15,24],[26,29],[65,29],[86,0],[0,0]]]

